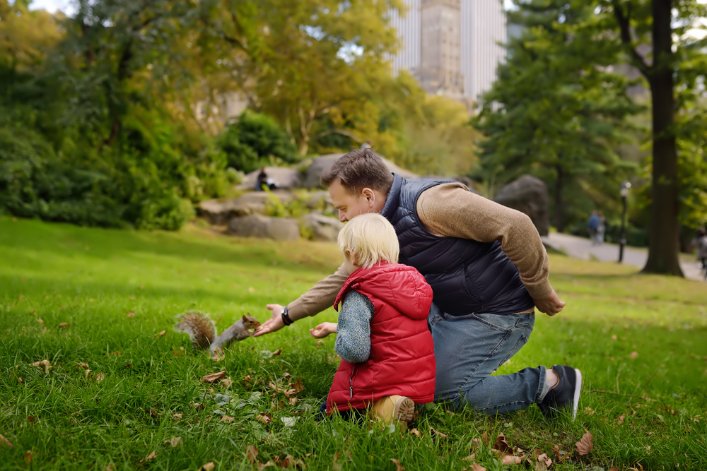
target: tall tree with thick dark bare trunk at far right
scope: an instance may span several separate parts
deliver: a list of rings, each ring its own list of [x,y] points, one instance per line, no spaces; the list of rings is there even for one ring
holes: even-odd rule
[[[650,86],[653,161],[648,261],[643,272],[682,276],[677,256],[681,178],[676,114],[689,112],[686,105],[694,102],[689,96],[704,87],[707,41],[688,32],[699,28],[696,23],[707,16],[707,6],[697,0],[603,0],[602,9],[613,16],[612,26],[629,63]],[[644,57],[638,44],[649,37],[652,54]],[[676,100],[681,89],[682,99]]]

